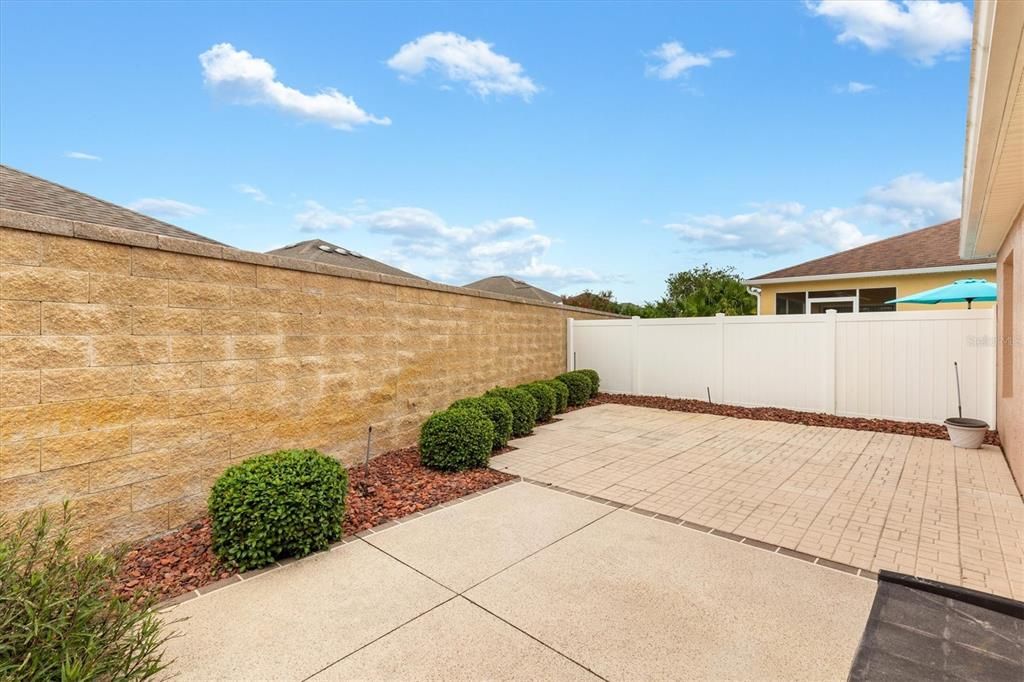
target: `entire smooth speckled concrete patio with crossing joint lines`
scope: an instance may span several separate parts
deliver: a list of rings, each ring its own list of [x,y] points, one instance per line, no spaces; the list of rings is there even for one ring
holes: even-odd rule
[[[876,584],[528,482],[165,611],[183,680],[845,680]]]

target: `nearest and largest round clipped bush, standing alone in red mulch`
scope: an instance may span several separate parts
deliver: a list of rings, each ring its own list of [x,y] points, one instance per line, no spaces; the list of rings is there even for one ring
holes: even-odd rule
[[[210,493],[213,550],[248,570],[327,549],[341,538],[347,493],[348,472],[315,450],[250,458]]]

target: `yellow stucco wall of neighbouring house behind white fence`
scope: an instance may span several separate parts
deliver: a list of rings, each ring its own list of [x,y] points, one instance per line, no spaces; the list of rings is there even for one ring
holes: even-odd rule
[[[792,284],[759,285],[761,289],[761,314],[775,314],[775,294],[795,291],[828,291],[833,289],[881,289],[896,287],[896,298],[942,287],[956,280],[988,280],[995,279],[992,269],[959,270],[951,272],[905,274],[884,278],[860,278],[851,280],[819,280],[817,282],[795,282]],[[991,303],[975,303],[975,308],[991,307]],[[935,310],[936,308],[966,308],[966,303],[938,303],[936,305],[920,305],[915,303],[897,303],[897,310]]]

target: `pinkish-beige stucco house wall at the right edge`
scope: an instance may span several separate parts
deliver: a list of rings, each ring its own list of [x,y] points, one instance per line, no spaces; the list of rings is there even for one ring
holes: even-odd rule
[[[1013,256],[1013,279],[1005,266]],[[1002,452],[1017,481],[1017,488],[1024,493],[1024,212],[1017,216],[998,255],[999,302],[995,306],[996,335],[996,419]],[[1012,291],[1011,297],[1006,292]],[[1014,307],[1012,328],[1008,324],[1006,308]],[[1013,356],[1012,369],[1008,363]],[[1008,381],[1012,374],[1012,381]],[[1012,384],[1012,385],[1011,385]]]

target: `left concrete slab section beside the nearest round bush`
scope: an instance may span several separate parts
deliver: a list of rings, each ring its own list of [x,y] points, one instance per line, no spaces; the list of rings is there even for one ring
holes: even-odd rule
[[[183,680],[302,680],[454,594],[361,542],[184,602],[165,620]]]

